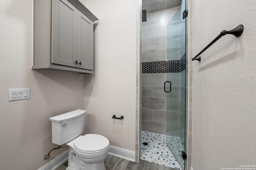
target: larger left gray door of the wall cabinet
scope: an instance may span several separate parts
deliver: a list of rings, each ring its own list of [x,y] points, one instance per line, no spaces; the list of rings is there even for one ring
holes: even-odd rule
[[[77,9],[67,0],[52,0],[52,63],[76,67]]]

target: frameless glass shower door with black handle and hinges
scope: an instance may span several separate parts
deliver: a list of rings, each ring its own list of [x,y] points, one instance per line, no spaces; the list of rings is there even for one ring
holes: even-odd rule
[[[184,169],[186,110],[186,10],[184,0],[166,29],[166,143]]]

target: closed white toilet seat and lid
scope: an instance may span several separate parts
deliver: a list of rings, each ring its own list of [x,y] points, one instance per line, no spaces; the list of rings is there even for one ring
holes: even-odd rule
[[[74,142],[74,148],[82,153],[98,153],[107,150],[109,141],[97,134],[86,134]]]

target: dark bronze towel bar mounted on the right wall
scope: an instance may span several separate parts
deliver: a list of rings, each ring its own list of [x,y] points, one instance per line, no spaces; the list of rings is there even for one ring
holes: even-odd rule
[[[204,51],[206,51],[211,45],[213,45],[216,41],[218,41],[222,36],[226,35],[226,34],[232,34],[235,37],[240,37],[243,33],[244,30],[244,26],[243,25],[238,25],[235,29],[232,29],[230,31],[226,31],[223,30],[220,32],[220,35],[218,35],[214,40],[212,40],[212,42],[210,42],[210,44],[208,44],[200,53],[198,53],[198,55],[196,55],[196,57],[194,57],[192,59],[192,61],[197,60],[197,61],[201,61],[201,54],[204,53]]]

